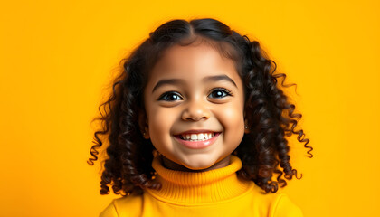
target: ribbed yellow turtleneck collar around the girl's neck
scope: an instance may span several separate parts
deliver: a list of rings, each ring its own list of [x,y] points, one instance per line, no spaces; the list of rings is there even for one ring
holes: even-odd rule
[[[161,190],[149,193],[160,200],[172,203],[212,203],[238,196],[252,187],[248,181],[238,178],[236,171],[242,168],[242,161],[231,156],[230,165],[205,172],[183,172],[167,169],[162,165],[161,156],[154,158],[153,168]]]

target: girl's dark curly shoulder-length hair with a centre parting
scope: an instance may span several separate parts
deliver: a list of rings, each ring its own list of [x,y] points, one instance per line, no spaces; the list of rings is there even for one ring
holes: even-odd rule
[[[284,84],[286,75],[274,73],[276,63],[268,58],[259,42],[250,41],[248,36],[215,19],[176,19],[149,33],[147,40],[120,61],[121,70],[113,80],[109,99],[100,104],[100,117],[93,119],[100,120],[101,128],[94,133],[95,145],[90,148],[92,157],[88,164],[94,165],[98,149],[106,142],[105,138],[109,140],[100,194],[108,194],[109,185],[114,193],[123,196],[141,193],[144,188],[160,189],[161,185],[153,181],[155,171],[151,165],[155,147],[150,139],[144,139],[138,125],[138,115],[145,111],[143,91],[147,74],[162,53],[175,44],[188,45],[195,38],[213,42],[219,52],[233,59],[244,83],[244,111],[250,133],[244,135],[233,152],[242,160],[242,169],[237,174],[252,180],[265,193],[276,193],[279,185],[287,184],[281,178],[283,174],[288,180],[293,175],[298,178],[297,170],[290,165],[286,137],[298,135],[298,141],[309,149],[307,156],[313,156],[303,130],[295,130],[302,115],[294,112],[295,105],[280,90],[295,84]],[[278,175],[277,181],[271,179],[273,174]]]

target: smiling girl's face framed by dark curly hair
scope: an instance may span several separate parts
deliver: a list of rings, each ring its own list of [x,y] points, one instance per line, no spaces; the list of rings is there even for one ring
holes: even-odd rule
[[[210,45],[169,48],[150,71],[144,101],[146,138],[166,167],[223,167],[242,141],[242,80],[233,61]]]

